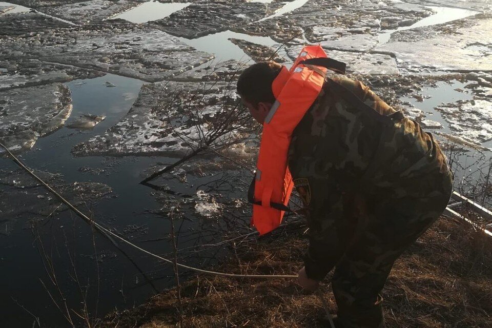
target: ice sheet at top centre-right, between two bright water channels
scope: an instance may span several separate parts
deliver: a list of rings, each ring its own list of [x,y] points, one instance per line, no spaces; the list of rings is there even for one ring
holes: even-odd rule
[[[393,1],[347,3],[308,1],[282,16],[254,24],[235,25],[231,30],[252,35],[268,35],[277,42],[322,43],[327,50],[368,51],[378,44],[381,23],[393,17],[394,26],[412,24],[430,15],[424,6],[396,7]]]

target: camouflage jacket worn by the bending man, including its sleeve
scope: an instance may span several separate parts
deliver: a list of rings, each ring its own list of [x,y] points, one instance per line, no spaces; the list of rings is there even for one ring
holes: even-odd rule
[[[308,209],[308,256],[327,262],[311,274],[318,279],[335,265],[335,250],[347,239],[334,229],[347,207],[357,207],[346,198],[380,204],[388,199],[449,199],[447,159],[433,136],[359,81],[340,75],[327,78],[294,130],[288,160]],[[307,265],[306,272],[310,276]]]

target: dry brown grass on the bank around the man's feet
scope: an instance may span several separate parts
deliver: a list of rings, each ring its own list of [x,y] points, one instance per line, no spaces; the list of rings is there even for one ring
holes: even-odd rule
[[[301,266],[302,229],[243,243],[216,268],[248,274],[293,274]],[[327,282],[328,280],[326,280]],[[322,288],[333,313],[331,289]],[[182,285],[185,327],[323,327],[316,295],[293,280],[199,276]],[[395,263],[383,290],[388,327],[492,327],[492,239],[444,218]],[[106,327],[176,327],[176,290],[113,313]]]

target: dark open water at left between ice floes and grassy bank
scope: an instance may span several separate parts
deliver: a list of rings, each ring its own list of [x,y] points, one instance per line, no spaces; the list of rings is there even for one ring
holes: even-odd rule
[[[116,87],[108,88],[104,84],[109,81]],[[77,85],[85,82],[83,85]],[[87,140],[92,135],[103,133],[111,127],[119,118],[125,115],[135,100],[143,83],[139,80],[106,75],[95,79],[79,81],[75,80],[67,86],[72,91],[73,112],[68,122],[74,120],[79,114],[90,113],[106,115],[106,119],[90,132],[78,132],[76,130],[61,128],[55,133],[40,138],[35,149],[23,154],[22,160],[27,166],[36,170],[45,170],[52,173],[60,173],[68,183],[76,181],[94,181],[105,183],[113,189],[110,199],[104,199],[92,208],[97,221],[107,223],[117,231],[125,231],[129,225],[135,224],[141,229],[146,229],[145,235],[135,233],[140,239],[155,239],[167,236],[169,222],[163,222],[161,216],[146,214],[145,209],[158,209],[159,204],[152,196],[152,190],[139,185],[142,179],[141,173],[156,162],[171,163],[174,159],[156,157],[73,157],[71,148],[78,142]],[[126,98],[125,98],[125,96]],[[16,169],[14,163],[8,159],[0,159],[2,168]],[[99,175],[79,172],[79,168],[104,169],[106,173]],[[87,213],[87,211],[85,211]],[[25,306],[30,312],[42,318],[42,323],[63,325],[64,321],[55,310],[48,293],[43,289],[39,278],[48,281],[44,274],[41,257],[34,244],[34,236],[28,229],[27,221],[18,220],[12,234],[0,238],[0,259],[2,262],[2,326],[27,326],[32,323],[32,318],[24,312],[16,302]],[[47,248],[55,247],[53,258],[57,269],[58,279],[67,292],[71,304],[77,304],[79,296],[74,292],[74,283],[70,281],[70,265],[68,251],[65,247],[64,235],[68,236],[70,249],[76,250],[76,267],[78,274],[83,279],[90,279],[90,300],[96,297],[96,268],[94,262],[94,250],[92,248],[92,231],[87,224],[68,211],[56,215],[41,229],[42,240]],[[128,228],[127,228],[128,229]],[[75,233],[75,238],[73,234]],[[142,238],[144,237],[144,238]],[[75,240],[73,240],[75,239]],[[129,306],[139,303],[153,294],[149,285],[144,284],[144,279],[138,271],[124,258],[112,244],[97,236],[97,250],[100,261],[100,313],[106,313],[115,306]],[[160,243],[148,243],[150,250],[158,253],[170,251],[167,241]],[[144,271],[155,271],[150,274],[152,278],[167,277],[172,273],[169,266],[157,266],[155,260],[150,260],[141,254],[129,254],[134,257]],[[102,257],[102,258],[101,258]],[[22,281],[22,283],[19,283]],[[155,282],[159,289],[170,286],[172,278],[160,279]],[[48,284],[48,282],[47,282]],[[86,283],[84,283],[86,284]],[[49,285],[49,284],[48,284]],[[123,290],[121,292],[120,290]],[[125,295],[125,297],[123,296]],[[103,301],[104,300],[104,301]],[[91,302],[94,304],[94,302]]]

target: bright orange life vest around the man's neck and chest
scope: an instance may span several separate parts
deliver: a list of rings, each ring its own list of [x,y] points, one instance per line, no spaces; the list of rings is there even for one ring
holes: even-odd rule
[[[344,73],[345,64],[327,58],[321,46],[306,46],[291,69],[282,67],[272,83],[276,101],[263,123],[257,169],[249,191],[252,224],[260,235],[277,228],[289,211],[294,183],[287,152],[292,132],[318,97],[326,68]]]

